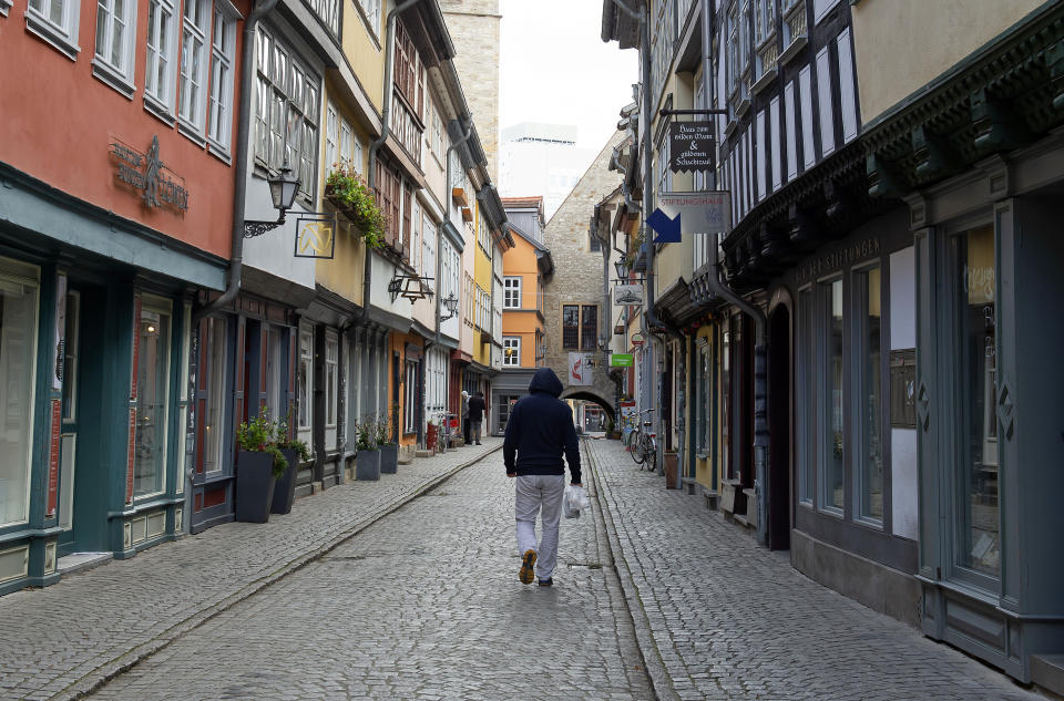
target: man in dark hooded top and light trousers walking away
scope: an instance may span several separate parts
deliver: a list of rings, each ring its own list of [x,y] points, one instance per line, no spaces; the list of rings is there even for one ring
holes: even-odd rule
[[[518,577],[532,584],[539,577],[541,587],[554,584],[557,560],[557,524],[565,494],[565,465],[569,463],[572,484],[580,482],[580,444],[573,425],[573,410],[557,399],[562,381],[550,368],[540,368],[529,383],[530,395],[513,405],[502,456],[507,476],[516,480],[518,551],[521,569]],[[543,533],[535,544],[535,519],[542,518]]]

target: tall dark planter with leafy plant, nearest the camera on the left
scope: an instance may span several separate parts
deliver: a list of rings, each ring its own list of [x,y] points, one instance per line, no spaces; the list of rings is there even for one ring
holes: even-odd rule
[[[266,411],[245,421],[236,431],[236,520],[264,524],[269,520],[277,477],[288,461],[277,447],[276,426]]]

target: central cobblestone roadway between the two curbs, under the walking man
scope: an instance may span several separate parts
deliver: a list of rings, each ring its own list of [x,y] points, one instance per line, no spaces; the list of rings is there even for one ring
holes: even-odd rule
[[[563,519],[554,587],[520,584],[495,453],[91,699],[653,699],[596,516]]]

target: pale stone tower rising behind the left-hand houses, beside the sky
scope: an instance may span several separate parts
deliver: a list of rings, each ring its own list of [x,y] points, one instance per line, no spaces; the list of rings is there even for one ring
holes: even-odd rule
[[[499,0],[440,0],[458,55],[469,111],[488,156],[488,173],[499,182]]]

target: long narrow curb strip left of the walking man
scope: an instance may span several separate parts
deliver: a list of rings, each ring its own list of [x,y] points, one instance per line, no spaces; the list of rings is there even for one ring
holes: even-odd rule
[[[165,649],[172,642],[185,636],[186,633],[195,630],[196,628],[207,622],[215,616],[232,608],[236,604],[244,601],[245,599],[265,589],[272,584],[283,579],[284,577],[290,575],[291,573],[297,571],[303,567],[307,566],[308,564],[321,558],[323,556],[327,555],[330,550],[337,548],[338,546],[344,544],[346,540],[349,540],[351,537],[358,535],[359,533],[361,533],[372,524],[377,523],[385,516],[388,516],[392,512],[401,508],[402,506],[407,505],[413,499],[420,496],[423,496],[426,493],[431,492],[432,489],[438,487],[443,482],[450,480],[462,470],[466,470],[467,467],[479,463],[480,461],[484,460],[489,455],[500,450],[502,450],[501,444],[481,453],[480,455],[477,455],[475,457],[464,463],[461,463],[448,470],[447,472],[443,472],[432,477],[431,480],[423,483],[419,487],[392,499],[391,502],[389,502],[388,504],[386,504],[385,506],[376,511],[372,515],[356,522],[352,526],[338,533],[324,545],[320,545],[311,550],[307,550],[298,555],[297,557],[288,560],[287,563],[284,563],[283,565],[274,569],[272,573],[264,575],[247,585],[244,585],[242,588],[237,589],[234,594],[225,597],[221,601],[217,601],[211,606],[207,606],[206,608],[200,609],[191,614],[185,619],[177,621],[166,630],[160,633],[156,633],[151,640],[146,642],[142,642],[137,646],[134,646],[132,649],[127,650],[123,654],[120,654],[119,657],[108,662],[98,664],[95,668],[93,668],[89,672],[82,674],[79,679],[68,683],[59,692],[44,698],[47,699],[47,701],[76,701],[78,699],[85,698],[86,695],[96,691],[98,689],[106,684],[109,681],[111,681],[119,674],[122,674],[133,669],[137,663],[142,662],[146,658],[152,657],[153,654]]]

